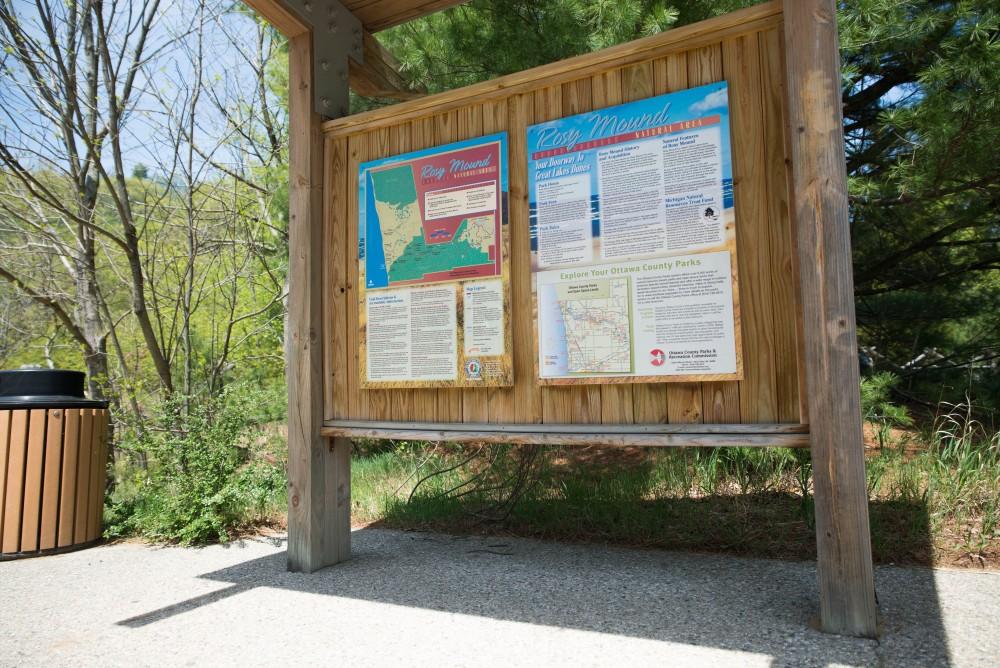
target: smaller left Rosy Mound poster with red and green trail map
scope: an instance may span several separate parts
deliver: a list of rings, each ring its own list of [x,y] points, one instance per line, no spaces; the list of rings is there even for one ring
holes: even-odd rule
[[[507,135],[363,163],[363,389],[513,384]]]

